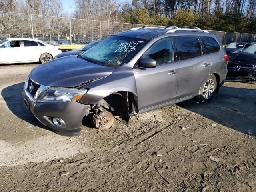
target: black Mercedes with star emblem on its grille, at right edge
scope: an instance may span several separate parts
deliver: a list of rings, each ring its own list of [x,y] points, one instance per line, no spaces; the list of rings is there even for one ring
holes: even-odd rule
[[[256,80],[256,44],[237,53],[228,62],[228,78],[232,77]]]

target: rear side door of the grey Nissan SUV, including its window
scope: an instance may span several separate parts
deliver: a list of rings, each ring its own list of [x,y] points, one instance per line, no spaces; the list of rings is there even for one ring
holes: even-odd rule
[[[179,66],[178,102],[198,94],[202,82],[210,74],[211,61],[198,36],[177,36],[175,39]]]

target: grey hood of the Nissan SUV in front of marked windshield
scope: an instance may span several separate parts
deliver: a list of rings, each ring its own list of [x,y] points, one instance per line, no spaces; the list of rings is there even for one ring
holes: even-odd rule
[[[114,68],[67,56],[36,66],[30,78],[45,86],[76,87],[88,81],[110,76]]]

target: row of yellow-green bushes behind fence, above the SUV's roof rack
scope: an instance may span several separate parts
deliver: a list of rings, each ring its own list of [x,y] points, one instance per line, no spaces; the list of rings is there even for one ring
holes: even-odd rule
[[[135,2],[135,1],[134,1]],[[167,1],[166,1],[167,2]],[[171,3],[172,1],[170,1]],[[152,12],[150,16],[148,9],[135,9],[127,7],[122,11],[121,21],[126,23],[145,25],[176,25],[176,26],[198,26],[206,30],[218,30],[227,32],[256,33],[256,18],[248,18],[242,13],[222,12],[216,9],[212,12],[198,12],[194,14],[192,9],[186,11],[178,9],[172,13],[172,19]]]

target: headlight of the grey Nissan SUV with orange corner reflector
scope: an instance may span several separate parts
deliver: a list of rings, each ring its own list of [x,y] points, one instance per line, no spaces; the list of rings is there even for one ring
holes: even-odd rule
[[[72,88],[50,87],[41,100],[47,101],[76,101],[80,99],[88,90],[78,90]]]

